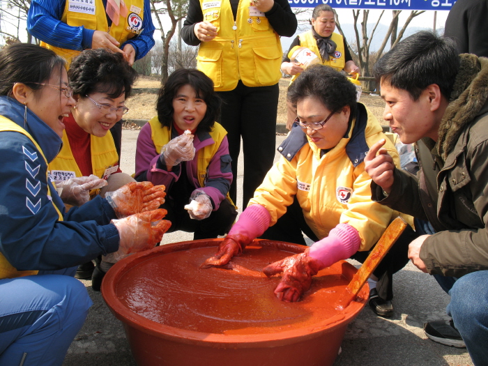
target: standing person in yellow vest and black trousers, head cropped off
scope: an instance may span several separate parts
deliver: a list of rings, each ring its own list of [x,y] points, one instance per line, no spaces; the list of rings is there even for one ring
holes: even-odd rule
[[[237,199],[237,165],[243,142],[243,206],[273,165],[282,47],[296,16],[288,0],[190,0],[181,36],[199,45],[197,68],[222,98],[218,121],[227,130]]]

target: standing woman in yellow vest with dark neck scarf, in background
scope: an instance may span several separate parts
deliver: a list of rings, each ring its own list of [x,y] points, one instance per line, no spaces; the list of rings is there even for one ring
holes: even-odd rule
[[[354,63],[351,53],[346,45],[346,40],[335,31],[335,13],[327,4],[316,6],[312,12],[312,29],[301,33],[293,40],[290,50],[295,46],[307,47],[316,54],[322,65],[330,66],[337,71],[358,74],[360,70]],[[296,63],[290,62],[289,52],[284,55],[281,70],[287,75],[292,75],[293,82],[303,71]],[[296,119],[296,107],[287,103],[287,128],[291,130]]]

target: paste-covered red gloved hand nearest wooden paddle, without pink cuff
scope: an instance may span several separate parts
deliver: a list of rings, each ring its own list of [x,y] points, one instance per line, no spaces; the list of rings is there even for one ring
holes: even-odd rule
[[[320,261],[308,255],[309,250],[307,248],[303,253],[276,261],[264,268],[263,272],[268,277],[283,273],[280,284],[275,289],[275,295],[280,300],[288,303],[300,300],[303,293],[310,289],[312,276],[323,268]]]

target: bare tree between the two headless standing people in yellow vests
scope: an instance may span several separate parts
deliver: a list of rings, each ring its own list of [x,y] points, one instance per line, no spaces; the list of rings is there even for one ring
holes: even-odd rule
[[[161,31],[162,54],[161,54],[161,82],[168,78],[169,45],[174,36],[178,21],[188,13],[188,0],[151,0],[152,13],[156,17]],[[168,16],[171,27],[168,31],[163,29],[162,16]]]

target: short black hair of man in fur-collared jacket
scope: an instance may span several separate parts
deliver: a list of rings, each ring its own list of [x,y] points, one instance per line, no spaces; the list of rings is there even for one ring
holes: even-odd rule
[[[408,91],[413,100],[418,100],[431,84],[439,85],[442,95],[449,100],[458,72],[455,42],[430,31],[405,38],[381,57],[373,69],[378,82]]]

